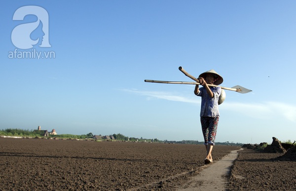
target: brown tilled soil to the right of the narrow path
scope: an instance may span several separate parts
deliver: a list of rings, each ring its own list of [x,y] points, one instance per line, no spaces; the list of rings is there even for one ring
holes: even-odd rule
[[[253,149],[239,152],[228,178],[228,191],[295,191],[296,155],[259,153]]]

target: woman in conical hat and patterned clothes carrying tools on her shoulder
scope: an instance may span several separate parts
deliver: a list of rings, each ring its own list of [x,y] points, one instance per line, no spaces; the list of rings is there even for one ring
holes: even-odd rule
[[[197,79],[203,86],[199,88],[198,85],[196,85],[194,94],[196,96],[201,96],[200,122],[207,150],[205,163],[208,164],[213,162],[212,150],[215,145],[220,116],[218,100],[221,95],[220,87],[210,87],[208,84],[220,85],[223,82],[223,78],[215,70],[211,69],[200,74]]]

